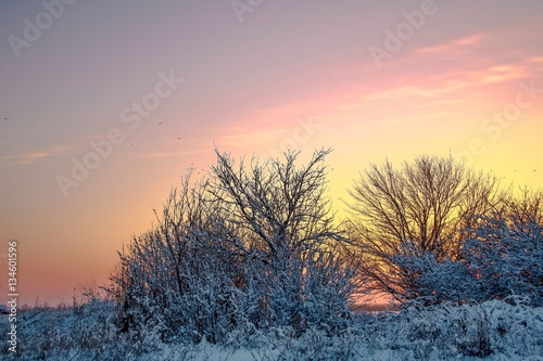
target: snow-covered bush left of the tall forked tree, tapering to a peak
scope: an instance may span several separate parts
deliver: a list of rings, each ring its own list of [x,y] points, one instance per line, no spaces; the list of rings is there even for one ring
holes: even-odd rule
[[[202,182],[190,175],[173,191],[162,217],[119,254],[110,294],[121,308],[119,330],[154,328],[162,340],[217,343],[236,327],[238,259],[224,241],[220,218]]]

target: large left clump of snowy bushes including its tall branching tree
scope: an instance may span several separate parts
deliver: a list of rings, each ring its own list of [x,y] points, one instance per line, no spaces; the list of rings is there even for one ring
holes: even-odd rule
[[[328,153],[305,167],[287,153],[248,169],[217,152],[209,179],[187,176],[157,224],[119,254],[110,293],[121,330],[224,344],[240,331],[345,328],[354,287],[334,254],[344,237],[325,195]]]

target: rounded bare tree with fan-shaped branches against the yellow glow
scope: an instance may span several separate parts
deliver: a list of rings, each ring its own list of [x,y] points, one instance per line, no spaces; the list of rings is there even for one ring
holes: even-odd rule
[[[396,262],[406,249],[430,253],[438,261],[458,257],[462,230],[502,198],[492,176],[476,173],[450,157],[424,155],[396,169],[387,160],[370,165],[350,192],[349,224],[357,247],[359,281],[369,292],[396,299],[415,297],[417,274]]]

